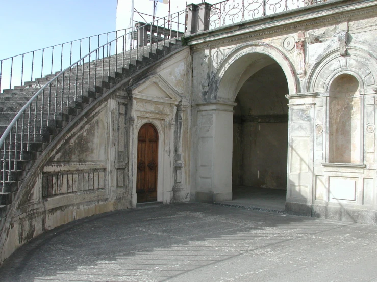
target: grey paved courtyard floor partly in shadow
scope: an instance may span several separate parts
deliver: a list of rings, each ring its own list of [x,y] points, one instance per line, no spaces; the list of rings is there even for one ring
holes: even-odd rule
[[[208,204],[93,216],[43,234],[1,281],[377,281],[377,227]]]

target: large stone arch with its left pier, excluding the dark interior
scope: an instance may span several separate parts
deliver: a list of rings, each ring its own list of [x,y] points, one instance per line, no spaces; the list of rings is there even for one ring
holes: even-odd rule
[[[243,44],[231,51],[213,73],[197,112],[195,201],[232,200],[233,116],[236,96],[247,79],[265,67],[279,65],[288,93],[300,91],[289,59],[268,44]],[[284,97],[284,95],[283,95]]]

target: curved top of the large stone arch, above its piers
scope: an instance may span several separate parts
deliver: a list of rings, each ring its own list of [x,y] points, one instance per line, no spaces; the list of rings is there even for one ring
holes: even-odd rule
[[[295,68],[283,52],[269,44],[247,43],[233,49],[211,77],[208,91],[211,100],[234,102],[243,83],[273,63],[278,63],[283,69],[289,93],[299,92]]]

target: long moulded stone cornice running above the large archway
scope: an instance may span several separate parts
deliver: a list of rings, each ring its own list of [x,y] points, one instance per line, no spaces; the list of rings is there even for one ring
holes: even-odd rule
[[[335,4],[339,5],[339,2],[335,2]],[[282,32],[299,29],[305,30],[308,25],[336,22],[339,20],[347,19],[349,17],[357,17],[366,14],[377,13],[377,1],[375,0],[361,3],[358,2],[356,4],[335,7],[332,9],[325,9],[326,7],[329,7],[326,5],[333,6],[334,3],[333,5],[326,3],[325,5],[321,5],[320,7],[305,7],[305,10],[300,9],[294,12],[289,11],[281,13],[279,15],[270,15],[268,16],[268,18],[263,17],[260,19],[241,22],[235,25],[222,27],[221,29],[195,34],[187,37],[187,39],[190,40],[192,38],[192,40],[189,42],[189,45],[191,49],[196,50],[227,44],[229,42],[263,37],[268,34],[282,34]],[[312,12],[311,10],[313,10],[314,8],[316,10],[318,10],[318,8],[321,8],[321,10]],[[307,13],[303,14],[303,11]],[[300,13],[300,15],[292,17],[294,13]],[[275,20],[271,22],[271,19]],[[266,23],[266,21],[268,22]],[[257,22],[260,23],[258,24]]]

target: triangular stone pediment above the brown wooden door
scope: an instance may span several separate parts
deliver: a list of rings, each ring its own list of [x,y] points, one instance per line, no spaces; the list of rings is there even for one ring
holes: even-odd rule
[[[178,104],[181,96],[159,74],[148,77],[127,89],[134,98],[148,101]]]

